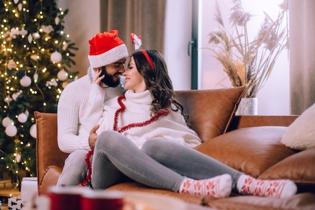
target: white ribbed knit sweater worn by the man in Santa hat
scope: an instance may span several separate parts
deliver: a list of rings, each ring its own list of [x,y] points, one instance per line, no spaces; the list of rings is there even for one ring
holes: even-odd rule
[[[88,107],[91,92],[93,68],[88,74],[70,82],[62,91],[58,101],[58,146],[61,151],[71,153],[77,149],[91,150],[89,138],[78,136],[81,130],[82,118]],[[121,84],[117,87],[101,88],[95,97],[100,96],[103,101],[124,94],[125,77],[121,77]],[[102,110],[102,106],[98,109]]]

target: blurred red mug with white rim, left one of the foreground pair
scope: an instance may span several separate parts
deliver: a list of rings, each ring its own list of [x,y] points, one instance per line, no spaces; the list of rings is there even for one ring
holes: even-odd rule
[[[81,210],[81,195],[90,190],[79,186],[49,187],[50,210]]]

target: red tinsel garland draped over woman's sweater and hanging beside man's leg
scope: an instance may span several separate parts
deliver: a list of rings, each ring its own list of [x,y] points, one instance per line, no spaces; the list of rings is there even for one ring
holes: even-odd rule
[[[117,131],[118,133],[123,133],[131,128],[136,128],[136,127],[144,127],[147,126],[157,119],[159,119],[161,116],[167,116],[169,115],[168,110],[160,111],[159,113],[155,114],[151,119],[144,121],[142,123],[130,123],[129,125],[123,126],[122,128],[118,129],[118,117],[120,113],[124,112],[126,110],[125,104],[122,102],[123,99],[126,99],[125,95],[121,95],[117,98],[118,104],[120,108],[116,110],[115,112],[115,117],[114,117],[114,125],[113,125],[113,130]],[[91,150],[88,152],[86,156],[86,164],[88,166],[88,174],[87,177],[83,182],[78,184],[78,186],[86,186],[92,179],[92,162],[91,162],[91,157],[93,155],[94,150]]]

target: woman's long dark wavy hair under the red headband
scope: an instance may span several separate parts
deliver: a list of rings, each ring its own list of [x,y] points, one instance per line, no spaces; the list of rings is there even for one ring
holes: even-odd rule
[[[156,50],[145,50],[153,64],[151,69],[149,62],[141,51],[131,54],[140,75],[143,76],[148,90],[151,92],[153,100],[151,104],[151,115],[171,107],[174,103],[183,113],[182,104],[175,98],[173,84],[170,79],[166,62],[163,55]]]

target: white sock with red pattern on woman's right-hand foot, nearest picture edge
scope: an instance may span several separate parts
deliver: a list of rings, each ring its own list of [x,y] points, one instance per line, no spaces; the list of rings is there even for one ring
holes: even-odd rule
[[[264,197],[289,197],[296,193],[297,187],[288,179],[264,180],[255,179],[249,175],[241,175],[237,188],[240,194],[258,195]]]

